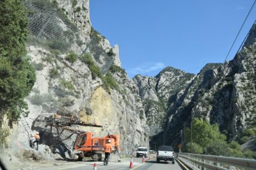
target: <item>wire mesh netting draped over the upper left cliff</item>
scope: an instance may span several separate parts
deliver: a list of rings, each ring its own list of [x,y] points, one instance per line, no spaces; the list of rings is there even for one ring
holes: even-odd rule
[[[28,10],[28,44],[67,52],[72,46],[82,46],[79,29],[64,11],[45,0],[24,0]]]

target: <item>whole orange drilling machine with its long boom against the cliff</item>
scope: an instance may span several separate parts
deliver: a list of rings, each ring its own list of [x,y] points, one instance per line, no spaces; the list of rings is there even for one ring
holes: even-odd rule
[[[93,161],[101,161],[104,153],[104,146],[108,143],[109,139],[111,140],[111,145],[113,146],[112,152],[120,153],[118,134],[108,134],[104,137],[93,137],[94,135],[92,132],[83,132],[77,129],[72,129],[72,127],[70,127],[71,125],[103,127],[95,123],[93,124],[80,121],[77,116],[72,115],[69,117],[57,115],[56,113],[45,113],[41,114],[35,119],[33,126],[35,126],[36,122],[44,123],[45,131],[47,127],[50,127],[50,131],[52,131],[53,127],[55,127],[57,129],[58,136],[60,136],[61,132],[64,130],[72,132],[72,134],[66,137],[66,139],[69,139],[73,134],[77,134],[77,137],[73,142],[74,145],[72,149],[75,153],[71,156],[72,160],[82,161],[84,157],[91,157]],[[62,141],[66,139],[59,140]]]

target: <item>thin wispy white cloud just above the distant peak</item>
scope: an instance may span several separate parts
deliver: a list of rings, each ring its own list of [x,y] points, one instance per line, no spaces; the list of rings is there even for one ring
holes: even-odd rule
[[[164,63],[154,63],[154,64],[145,64],[140,67],[129,69],[128,72],[137,75],[137,74],[145,74],[150,73],[151,71],[156,71],[163,69],[165,67]]]

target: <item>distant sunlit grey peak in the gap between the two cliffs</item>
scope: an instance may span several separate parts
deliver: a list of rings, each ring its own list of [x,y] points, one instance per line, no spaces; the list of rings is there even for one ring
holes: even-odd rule
[[[165,68],[153,78],[136,75],[132,79],[139,88],[148,125],[164,127],[171,100],[177,92],[181,94],[193,79],[193,74],[172,67]]]

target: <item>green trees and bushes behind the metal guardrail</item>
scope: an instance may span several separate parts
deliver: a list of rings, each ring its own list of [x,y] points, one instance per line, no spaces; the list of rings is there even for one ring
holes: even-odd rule
[[[255,136],[255,132],[256,129],[251,129],[245,134]],[[182,148],[183,152],[256,159],[256,152],[249,149],[242,150],[237,141],[227,142],[226,135],[220,132],[218,124],[211,125],[203,119],[195,118],[192,121],[192,144],[190,128],[186,129],[185,137],[187,144]]]

